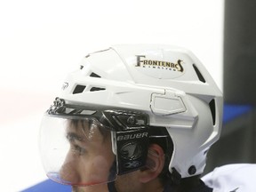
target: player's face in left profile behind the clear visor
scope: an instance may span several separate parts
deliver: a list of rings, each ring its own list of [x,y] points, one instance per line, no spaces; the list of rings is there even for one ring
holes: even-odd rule
[[[90,120],[72,120],[68,123],[66,138],[70,148],[60,169],[60,177],[74,186],[73,191],[90,191],[92,187],[79,189],[75,186],[91,186],[112,180],[111,169],[116,164],[109,131],[101,130]]]

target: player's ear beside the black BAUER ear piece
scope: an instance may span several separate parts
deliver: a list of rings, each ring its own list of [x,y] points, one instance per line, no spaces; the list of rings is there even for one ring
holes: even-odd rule
[[[148,148],[148,158],[146,169],[140,171],[139,180],[146,183],[154,180],[164,168],[164,150],[157,144],[152,144]]]

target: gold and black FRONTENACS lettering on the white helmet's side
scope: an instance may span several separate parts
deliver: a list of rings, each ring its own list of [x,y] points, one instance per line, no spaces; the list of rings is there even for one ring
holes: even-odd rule
[[[162,69],[167,69],[167,70],[172,70],[172,71],[179,71],[183,72],[184,68],[182,67],[182,60],[177,60],[176,63],[173,62],[168,62],[168,61],[163,61],[163,60],[146,60],[145,55],[136,55],[137,57],[137,63],[135,67],[140,67],[140,68],[162,68]]]

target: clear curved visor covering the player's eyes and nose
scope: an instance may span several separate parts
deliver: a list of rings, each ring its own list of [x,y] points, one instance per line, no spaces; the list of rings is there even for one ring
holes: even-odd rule
[[[111,131],[96,118],[45,114],[40,152],[47,176],[62,184],[91,186],[116,179]]]

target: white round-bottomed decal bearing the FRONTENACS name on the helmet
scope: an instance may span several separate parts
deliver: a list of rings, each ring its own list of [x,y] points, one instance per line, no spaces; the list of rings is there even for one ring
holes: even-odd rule
[[[135,67],[140,72],[156,78],[175,78],[185,72],[183,60],[149,60],[146,55],[136,55]]]

